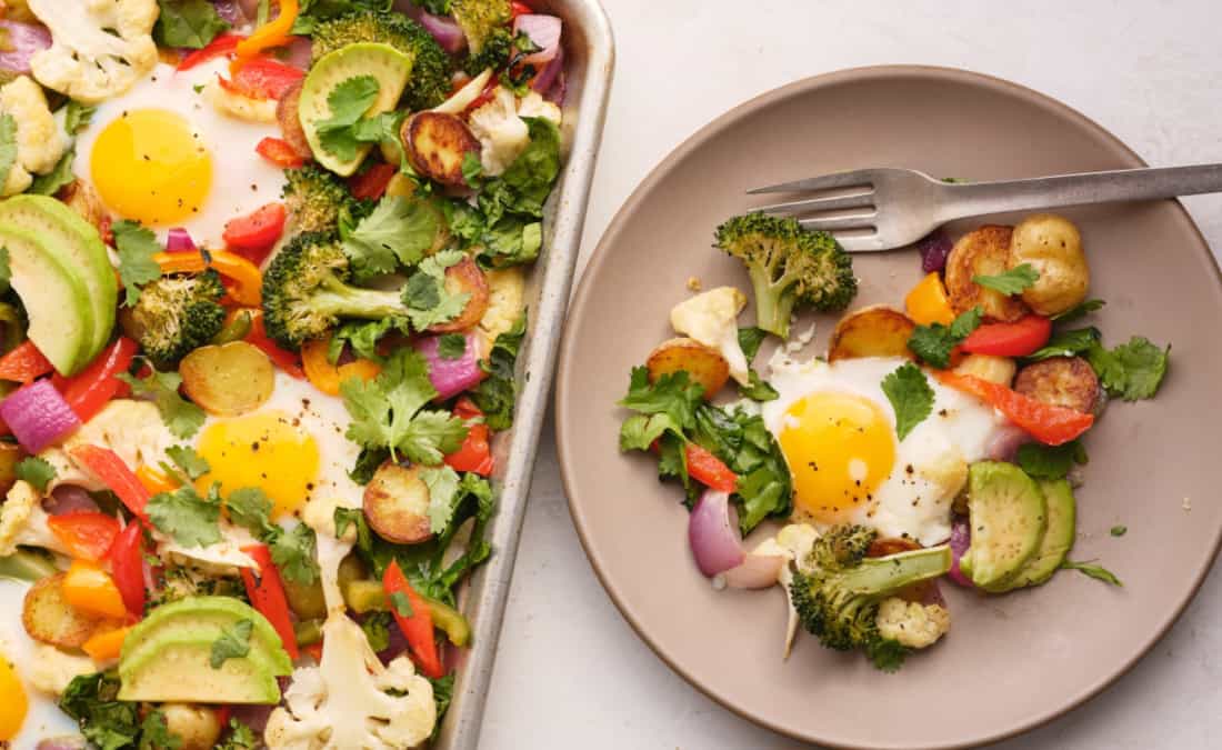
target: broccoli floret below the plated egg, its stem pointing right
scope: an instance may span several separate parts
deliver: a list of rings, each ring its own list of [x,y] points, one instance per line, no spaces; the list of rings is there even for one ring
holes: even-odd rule
[[[904,586],[946,574],[951,548],[866,557],[876,534],[857,525],[830,529],[796,566],[789,594],[802,625],[824,646],[860,649],[877,668],[895,672],[908,649],[879,633],[879,603]]]

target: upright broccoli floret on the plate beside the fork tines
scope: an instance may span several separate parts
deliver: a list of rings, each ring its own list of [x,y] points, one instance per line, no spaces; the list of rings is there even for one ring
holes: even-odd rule
[[[755,325],[781,338],[798,304],[843,310],[857,296],[853,260],[826,232],[796,219],[755,213],[717,227],[716,247],[747,265],[755,288]]]

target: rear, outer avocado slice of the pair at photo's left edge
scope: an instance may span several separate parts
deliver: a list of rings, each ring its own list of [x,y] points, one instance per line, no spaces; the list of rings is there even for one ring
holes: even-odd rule
[[[83,281],[84,299],[92,310],[93,329],[89,347],[79,364],[88,363],[110,342],[119,297],[115,269],[110,265],[106,246],[103,244],[98,230],[76,211],[49,195],[13,195],[0,202],[0,221],[35,233],[43,242],[59,248],[61,254],[70,259],[68,268]]]

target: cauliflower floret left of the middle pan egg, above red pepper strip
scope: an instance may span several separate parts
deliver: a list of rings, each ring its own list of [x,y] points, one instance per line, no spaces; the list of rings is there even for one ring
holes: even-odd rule
[[[161,421],[161,413],[155,404],[116,398],[84,423],[62,447],[48,448],[38,454],[55,468],[51,487],[71,484],[90,491],[106,489],[68,458],[67,451],[78,445],[110,448],[134,470],[141,464],[155,467],[158,462],[165,461],[165,450],[175,445],[175,439]]]

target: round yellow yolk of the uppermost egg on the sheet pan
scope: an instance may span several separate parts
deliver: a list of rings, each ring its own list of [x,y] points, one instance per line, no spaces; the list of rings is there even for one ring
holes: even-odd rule
[[[187,121],[167,110],[125,112],[108,125],[89,156],[101,200],[147,226],[198,214],[213,184],[213,160]]]

